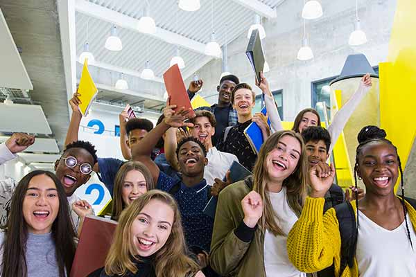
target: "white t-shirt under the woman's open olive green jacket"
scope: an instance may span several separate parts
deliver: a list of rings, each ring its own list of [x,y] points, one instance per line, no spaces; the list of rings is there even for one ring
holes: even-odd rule
[[[288,204],[286,187],[283,187],[279,193],[269,192],[268,195],[275,211],[276,222],[286,236],[275,236],[266,230],[264,238],[264,267],[266,268],[266,276],[306,277],[306,274],[297,270],[288,258],[286,248],[287,235],[297,221],[297,216]]]

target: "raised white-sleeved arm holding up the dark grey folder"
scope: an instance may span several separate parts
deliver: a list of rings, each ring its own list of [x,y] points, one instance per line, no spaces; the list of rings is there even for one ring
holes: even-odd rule
[[[261,89],[261,92],[264,95],[264,102],[266,104],[267,114],[270,118],[270,125],[272,125],[272,132],[278,132],[283,130],[283,125],[281,125],[281,119],[279,116],[279,111],[277,111],[277,105],[275,98],[273,98],[272,92],[268,84],[268,80],[264,77],[263,72],[260,72],[261,82],[257,82],[256,85]]]

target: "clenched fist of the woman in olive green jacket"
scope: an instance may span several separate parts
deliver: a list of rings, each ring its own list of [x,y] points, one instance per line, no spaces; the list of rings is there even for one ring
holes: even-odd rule
[[[263,215],[263,199],[259,193],[252,190],[241,200],[241,207],[243,208],[245,225],[254,228]]]

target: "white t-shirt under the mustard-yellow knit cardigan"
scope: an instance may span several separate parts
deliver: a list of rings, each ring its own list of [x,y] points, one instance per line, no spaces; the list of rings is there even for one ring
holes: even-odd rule
[[[416,250],[416,235],[406,215],[410,238]],[[360,277],[416,276],[416,251],[410,247],[406,223],[390,231],[379,226],[364,213],[358,213],[356,260]]]

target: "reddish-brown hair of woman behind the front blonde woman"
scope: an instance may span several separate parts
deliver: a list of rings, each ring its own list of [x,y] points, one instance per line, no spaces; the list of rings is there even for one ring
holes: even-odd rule
[[[125,208],[125,203],[123,201],[121,190],[123,190],[125,176],[131,170],[137,170],[141,172],[141,174],[143,174],[144,179],[146,180],[146,188],[148,191],[155,189],[155,183],[153,182],[152,175],[143,163],[139,161],[128,161],[127,163],[124,163],[123,166],[121,166],[121,168],[117,172],[116,177],[114,178],[114,193],[111,213],[112,220],[118,221],[121,212]]]

